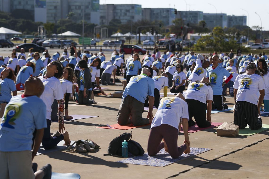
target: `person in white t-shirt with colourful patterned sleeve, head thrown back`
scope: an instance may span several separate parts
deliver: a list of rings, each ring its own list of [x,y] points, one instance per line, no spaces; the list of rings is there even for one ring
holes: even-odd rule
[[[41,79],[45,89],[41,95],[41,99],[47,107],[47,128],[44,129],[44,135],[42,139],[42,145],[45,149],[51,149],[55,147],[62,140],[65,141],[64,145],[70,145],[68,132],[63,132],[65,126],[63,123],[63,92],[61,82],[58,78],[61,78],[63,74],[63,66],[59,61],[52,61],[47,66],[47,72],[44,76],[38,77]],[[51,105],[54,99],[58,100],[59,104],[59,132],[55,132],[51,137],[50,126],[51,126]],[[62,133],[63,132],[63,133]],[[61,134],[62,133],[62,134]]]

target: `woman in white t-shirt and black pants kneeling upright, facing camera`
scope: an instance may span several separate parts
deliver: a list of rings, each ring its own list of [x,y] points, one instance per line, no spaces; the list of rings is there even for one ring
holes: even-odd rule
[[[183,65],[176,65],[177,72],[173,75],[173,86],[170,89],[171,93],[183,93],[185,90],[186,75],[183,72]]]

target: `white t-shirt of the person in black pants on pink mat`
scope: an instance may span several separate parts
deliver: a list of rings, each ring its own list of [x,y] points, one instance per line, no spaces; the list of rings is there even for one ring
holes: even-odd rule
[[[193,99],[206,104],[207,100],[213,100],[213,90],[211,86],[204,83],[192,82],[183,94],[185,99]]]

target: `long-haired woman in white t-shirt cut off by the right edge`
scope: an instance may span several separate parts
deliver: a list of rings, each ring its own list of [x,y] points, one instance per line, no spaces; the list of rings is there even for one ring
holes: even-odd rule
[[[264,81],[264,98],[263,98],[263,102],[264,102],[264,111],[265,112],[269,112],[269,72],[268,72],[268,67],[267,67],[267,63],[264,59],[259,59],[257,61],[257,69],[259,70],[261,76],[263,77],[263,81]]]

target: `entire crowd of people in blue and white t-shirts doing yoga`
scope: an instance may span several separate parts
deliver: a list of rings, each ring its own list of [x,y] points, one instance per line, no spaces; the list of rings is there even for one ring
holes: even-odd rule
[[[48,50],[41,56],[29,49],[27,56],[22,48],[20,53],[14,49],[11,56],[0,56],[0,158],[4,161],[0,166],[4,176],[49,178],[50,165],[35,170],[36,173],[29,166],[40,143],[45,149],[55,147],[62,140],[70,145],[64,126],[64,119],[72,119],[68,111],[70,96],[74,95],[82,105],[95,104],[93,89],[104,93],[100,82],[115,85],[116,75],[126,79],[116,120],[119,125],[151,123],[150,156],[162,148],[172,158],[189,153],[188,127],[211,126],[211,110],[228,109],[224,103],[227,88],[235,100],[233,123],[240,129],[247,125],[252,130],[259,129],[260,112],[269,112],[269,60],[265,53],[259,57],[245,56],[239,50],[236,54],[231,50],[229,54],[214,52],[206,56],[192,51],[161,53],[156,48],[153,54],[147,51],[140,60],[134,51],[125,59],[124,53],[115,49],[111,59],[106,60],[102,49],[94,54],[87,50],[80,53],[73,44],[69,49],[70,54],[64,49],[62,55],[56,52],[52,56]],[[161,88],[164,88],[162,99]],[[167,97],[168,88],[171,93],[177,93],[175,97]],[[22,90],[23,94],[17,95]],[[153,117],[154,106],[158,110]],[[147,118],[143,117],[144,107],[148,107]],[[59,123],[54,133],[50,130],[51,120]],[[181,124],[185,141],[178,147]],[[14,147],[13,143],[20,145]],[[32,157],[26,159],[29,155]],[[29,165],[18,166],[26,160]],[[14,166],[20,168],[19,172],[9,170]]]

